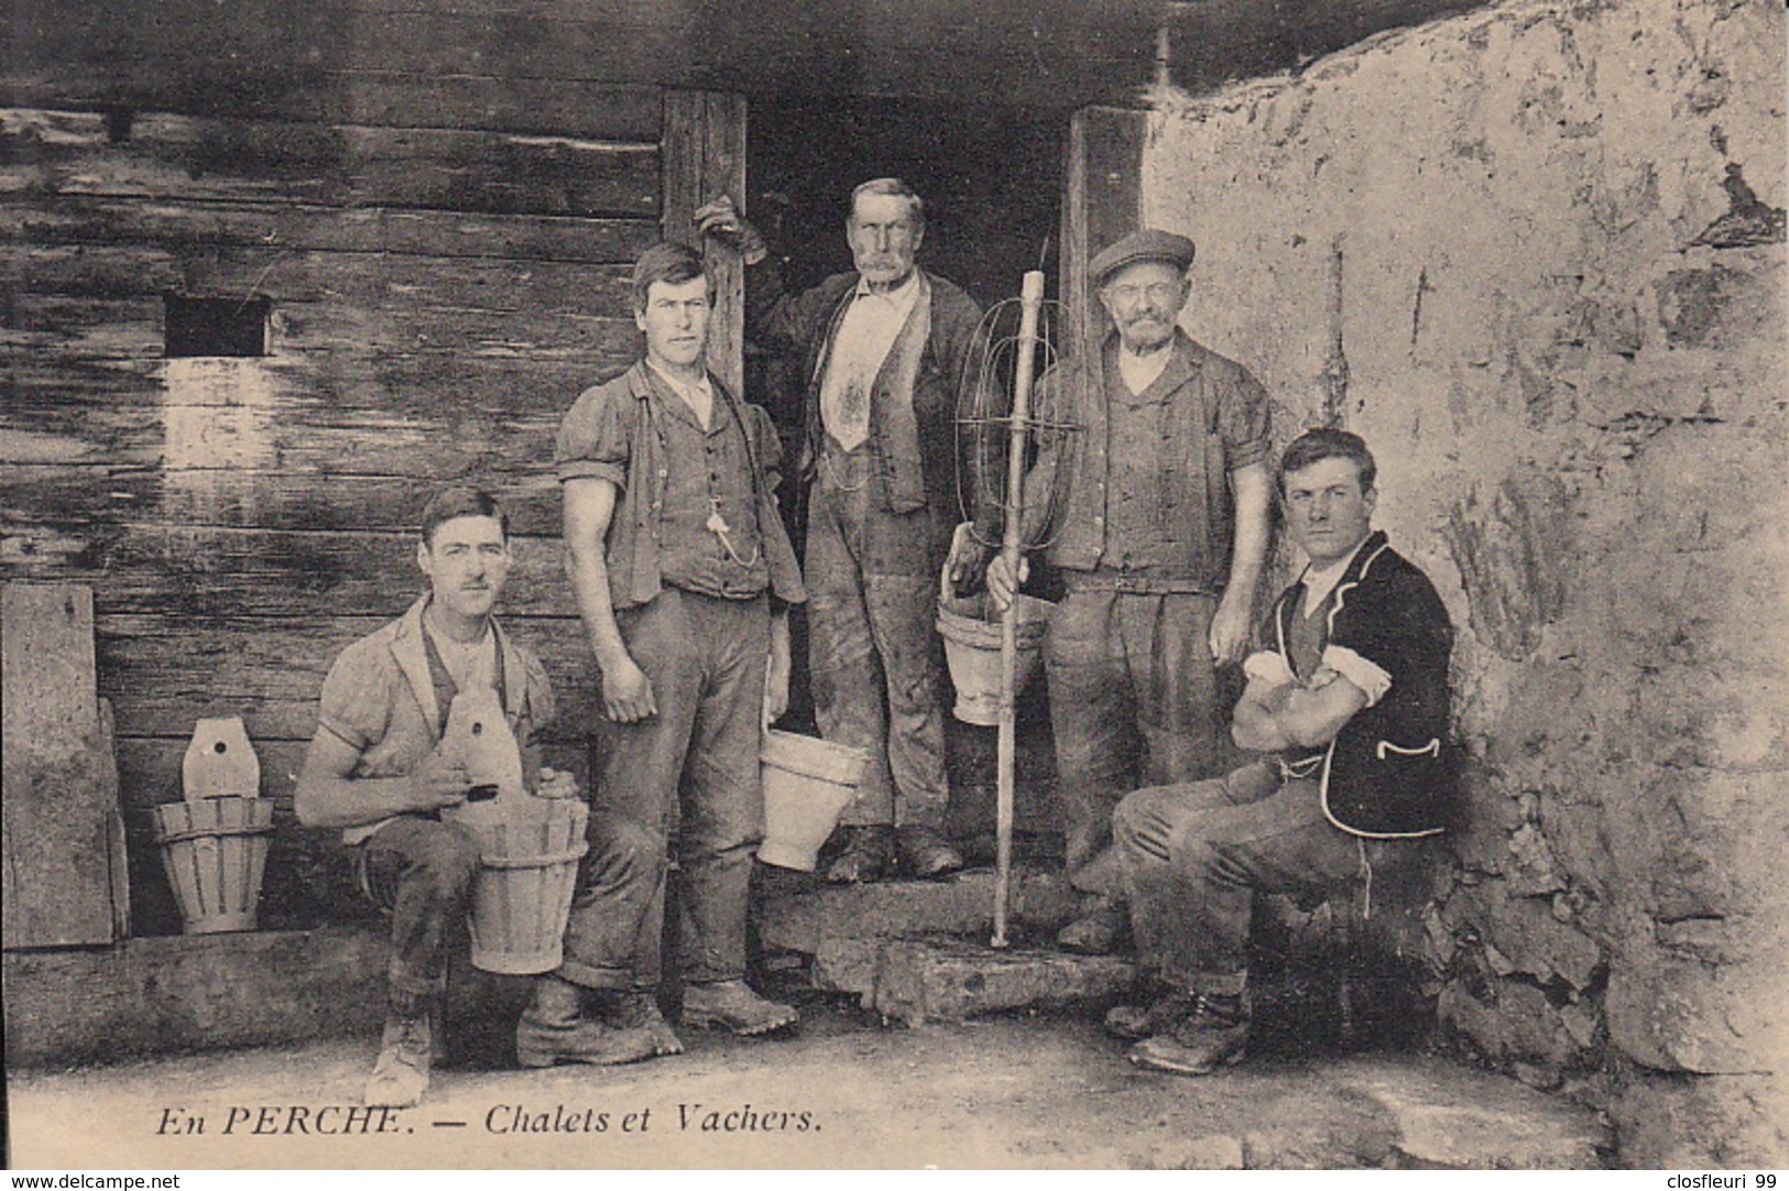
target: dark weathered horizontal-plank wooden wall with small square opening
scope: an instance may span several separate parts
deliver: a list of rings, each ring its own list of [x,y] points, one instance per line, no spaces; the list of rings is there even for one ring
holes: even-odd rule
[[[703,177],[664,147],[742,173],[683,123],[742,134],[742,102],[630,75],[639,30],[599,16],[420,7],[27,2],[0,32],[0,578],[95,590],[136,933],[179,930],[150,807],[200,715],[243,715],[277,799],[261,925],[365,912],[293,774],[329,662],[419,592],[444,481],[512,510],[508,624],[583,774],[553,433],[632,359],[630,261]],[[166,358],[170,297],[265,300],[265,356]]]

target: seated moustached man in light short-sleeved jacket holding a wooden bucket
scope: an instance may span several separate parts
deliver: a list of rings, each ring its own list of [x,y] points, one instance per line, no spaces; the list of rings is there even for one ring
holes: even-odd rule
[[[445,944],[465,919],[479,871],[472,833],[442,817],[474,794],[465,756],[444,748],[456,697],[494,692],[524,746],[526,769],[538,773],[528,787],[569,792],[558,787],[571,776],[537,769],[528,748],[553,717],[546,671],[492,617],[512,562],[508,519],[494,497],[476,488],[437,494],[422,511],[417,544],[429,592],[329,667],[299,774],[299,821],[342,828],[356,848],[361,883],[392,912],[388,1010],[369,1105],[413,1105],[428,1089],[440,1046]],[[524,1066],[632,1062],[653,1053],[646,1034],[564,1019],[551,1001],[553,976],[542,976],[517,1025]]]

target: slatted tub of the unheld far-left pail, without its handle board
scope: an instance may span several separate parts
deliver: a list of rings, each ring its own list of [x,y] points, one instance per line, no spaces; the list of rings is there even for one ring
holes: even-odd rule
[[[222,794],[156,807],[156,839],[190,935],[254,930],[274,801]]]

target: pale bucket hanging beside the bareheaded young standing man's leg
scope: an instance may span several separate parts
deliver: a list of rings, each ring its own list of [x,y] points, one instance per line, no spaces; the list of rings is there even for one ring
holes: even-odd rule
[[[812,873],[819,848],[857,796],[869,753],[814,737],[764,730],[764,842],[759,860]]]

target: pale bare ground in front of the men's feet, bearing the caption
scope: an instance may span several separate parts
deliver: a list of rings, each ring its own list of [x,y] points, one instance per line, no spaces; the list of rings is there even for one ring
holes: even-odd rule
[[[318,1111],[358,1100],[374,1039],[14,1071],[11,1164],[1539,1170],[1598,1168],[1608,1143],[1594,1114],[1513,1080],[1285,1028],[1240,1068],[1188,1080],[1123,1062],[1088,1010],[907,1028],[809,992],[803,1012],[787,1039],[691,1035],[689,1053],[628,1068],[472,1057],[383,1136],[284,1132],[293,1105],[342,1127],[342,1109]],[[274,1132],[258,1136],[267,1107]],[[517,1114],[571,1130],[521,1132]],[[202,1136],[157,1132],[193,1118]]]

